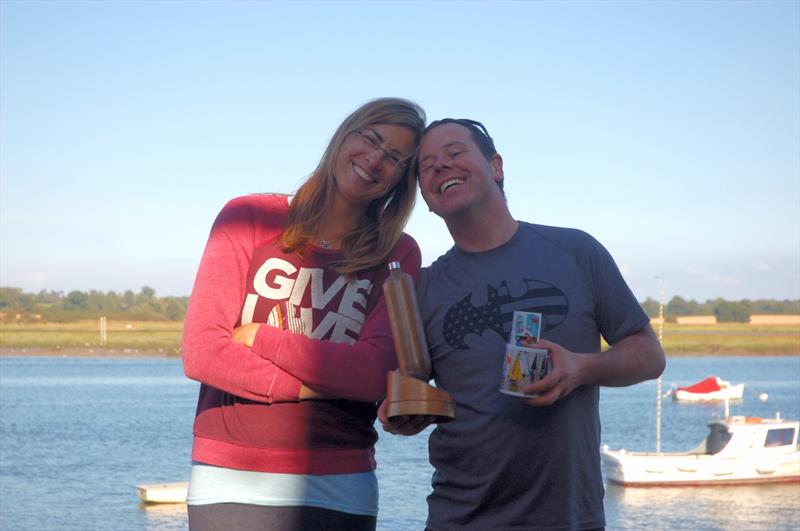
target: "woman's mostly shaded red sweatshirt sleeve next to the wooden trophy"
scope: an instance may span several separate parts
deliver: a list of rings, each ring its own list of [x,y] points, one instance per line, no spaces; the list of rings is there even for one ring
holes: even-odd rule
[[[403,238],[405,245],[396,246],[389,261],[399,261],[403,271],[416,278],[422,260],[419,247],[410,236]],[[311,339],[262,326],[253,351],[317,391],[364,402],[383,399],[386,373],[397,368],[397,356],[383,286],[376,288],[381,290],[380,298],[354,344]]]

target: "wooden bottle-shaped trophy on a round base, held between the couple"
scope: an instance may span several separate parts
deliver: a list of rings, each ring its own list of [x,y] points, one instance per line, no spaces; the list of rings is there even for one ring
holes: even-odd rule
[[[383,294],[389,311],[397,364],[386,382],[386,413],[399,415],[431,415],[435,422],[455,417],[455,403],[445,391],[428,384],[431,360],[428,342],[414,295],[414,281],[400,270],[400,262],[389,263],[389,278],[383,283]]]

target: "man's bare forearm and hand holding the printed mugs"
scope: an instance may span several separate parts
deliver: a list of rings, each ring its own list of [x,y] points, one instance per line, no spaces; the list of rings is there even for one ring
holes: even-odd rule
[[[540,381],[525,387],[534,406],[549,406],[581,385],[624,387],[657,378],[664,371],[664,351],[648,324],[605,352],[578,354],[542,339],[534,348],[550,352],[553,370]]]

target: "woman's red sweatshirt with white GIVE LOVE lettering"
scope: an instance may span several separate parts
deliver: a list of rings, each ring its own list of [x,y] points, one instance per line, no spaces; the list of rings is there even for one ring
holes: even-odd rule
[[[348,282],[339,251],[302,259],[276,245],[288,200],[230,201],[208,239],[186,313],[183,365],[198,380],[192,459],[292,474],[373,470],[376,401],[397,367],[384,264]],[[390,261],[416,277],[420,252],[403,234]],[[253,348],[232,330],[261,326]],[[324,340],[324,341],[320,341]],[[299,400],[301,383],[341,400]]]

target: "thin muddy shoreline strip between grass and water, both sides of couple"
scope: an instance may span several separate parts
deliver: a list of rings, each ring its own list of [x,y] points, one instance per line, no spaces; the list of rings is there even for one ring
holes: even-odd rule
[[[0,347],[0,357],[4,356],[31,356],[31,357],[62,357],[62,358],[175,358],[179,359],[180,352],[173,349],[109,349],[92,347],[65,347],[65,348],[44,348],[44,347]],[[720,357],[720,356],[800,356],[800,352],[666,352],[667,358],[685,357]]]

